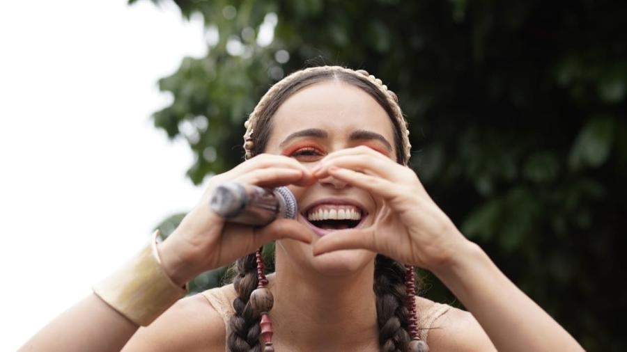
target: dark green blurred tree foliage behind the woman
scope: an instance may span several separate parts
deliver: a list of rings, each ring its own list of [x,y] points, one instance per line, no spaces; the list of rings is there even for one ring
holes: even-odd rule
[[[412,168],[463,233],[587,350],[627,349],[627,4],[175,2],[203,16],[208,54],[159,81],[173,102],[153,118],[189,141],[195,184],[242,160],[243,122],[272,83],[363,68],[400,98]],[[424,296],[454,300],[427,282]]]

